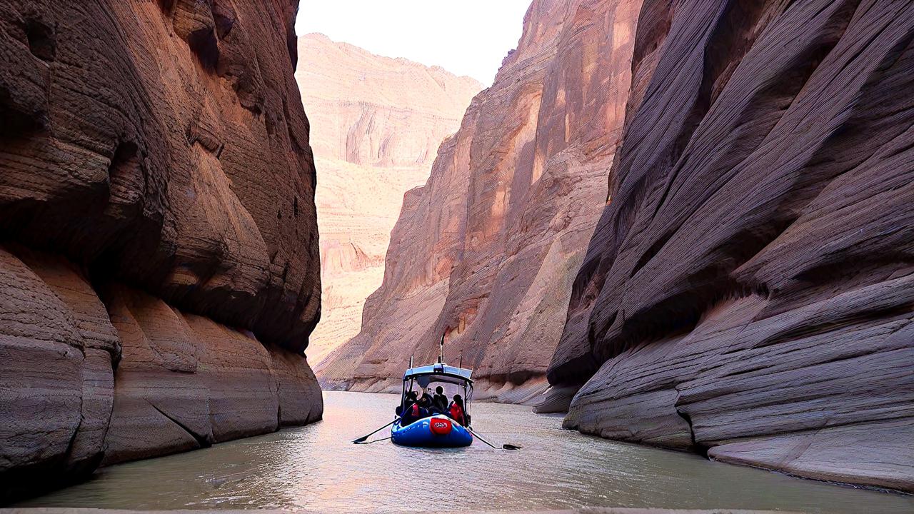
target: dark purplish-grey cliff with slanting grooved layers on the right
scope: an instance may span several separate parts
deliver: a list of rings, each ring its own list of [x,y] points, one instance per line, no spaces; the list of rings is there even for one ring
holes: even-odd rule
[[[912,41],[909,2],[645,2],[567,427],[914,490]]]

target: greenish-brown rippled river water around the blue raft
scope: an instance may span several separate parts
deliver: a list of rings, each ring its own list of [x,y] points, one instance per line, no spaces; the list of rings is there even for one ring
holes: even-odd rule
[[[561,509],[582,506],[914,512],[914,498],[833,486],[561,430],[528,407],[477,403],[496,444],[424,450],[352,444],[392,419],[398,398],[325,392],[324,421],[102,469],[23,506],[119,509]],[[387,436],[387,430],[379,436]],[[409,491],[409,494],[407,494]],[[409,498],[420,498],[414,503]]]

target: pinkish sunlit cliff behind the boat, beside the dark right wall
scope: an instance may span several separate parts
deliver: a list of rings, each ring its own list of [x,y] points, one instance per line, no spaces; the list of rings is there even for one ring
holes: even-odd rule
[[[536,1],[518,48],[409,191],[359,335],[325,387],[399,391],[414,355],[476,370],[479,397],[545,389],[571,283],[607,198],[640,2]]]

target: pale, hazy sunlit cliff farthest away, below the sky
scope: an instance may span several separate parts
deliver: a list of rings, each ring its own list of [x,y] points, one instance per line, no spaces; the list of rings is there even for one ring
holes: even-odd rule
[[[358,334],[365,300],[384,277],[403,194],[428,179],[438,146],[483,86],[321,34],[299,37],[298,50],[295,79],[321,170],[324,303],[308,348],[317,362]]]

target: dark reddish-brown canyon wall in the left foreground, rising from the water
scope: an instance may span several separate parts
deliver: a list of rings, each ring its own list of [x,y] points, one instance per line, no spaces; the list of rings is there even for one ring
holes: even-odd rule
[[[3,496],[320,417],[296,10],[0,1]]]

